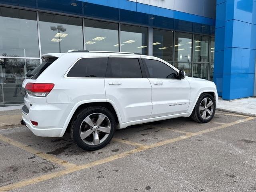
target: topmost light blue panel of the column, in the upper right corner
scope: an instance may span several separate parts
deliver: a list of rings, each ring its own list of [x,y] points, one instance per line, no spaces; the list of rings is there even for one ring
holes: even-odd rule
[[[256,1],[227,0],[227,6],[232,8],[227,12],[227,20],[235,19],[256,24]]]

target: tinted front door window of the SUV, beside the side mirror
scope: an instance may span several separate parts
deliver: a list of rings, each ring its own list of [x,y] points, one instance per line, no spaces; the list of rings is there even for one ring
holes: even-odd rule
[[[148,78],[177,79],[178,73],[170,66],[152,59],[144,59]]]

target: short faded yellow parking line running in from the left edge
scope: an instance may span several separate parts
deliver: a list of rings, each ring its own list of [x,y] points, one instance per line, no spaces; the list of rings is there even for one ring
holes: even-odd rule
[[[22,143],[20,143],[18,141],[10,139],[8,137],[2,136],[1,134],[0,134],[0,140],[4,141],[6,143],[9,143],[9,144],[11,144],[13,146],[16,146],[16,147],[18,147],[20,149],[23,149],[23,150],[25,150],[27,152],[30,152],[30,153],[32,153],[32,154],[34,154],[34,155],[36,155],[36,156],[38,156],[40,158],[47,159],[50,162],[62,165],[64,167],[66,167],[66,168],[72,168],[72,167],[76,166],[75,164],[72,164],[70,162],[67,162],[67,161],[61,160],[59,158],[56,158],[53,155],[46,154],[44,152],[40,152],[40,151],[30,147],[30,146],[24,145],[24,144],[22,144]]]

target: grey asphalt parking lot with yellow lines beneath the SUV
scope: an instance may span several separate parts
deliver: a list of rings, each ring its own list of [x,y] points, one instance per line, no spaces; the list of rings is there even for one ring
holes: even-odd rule
[[[0,130],[0,191],[256,192],[256,118],[216,111],[116,131],[86,152],[69,136]]]

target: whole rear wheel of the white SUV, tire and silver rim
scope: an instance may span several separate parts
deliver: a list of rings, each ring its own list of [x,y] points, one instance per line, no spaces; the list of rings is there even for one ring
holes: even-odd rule
[[[101,106],[84,108],[74,117],[70,127],[72,140],[82,149],[93,151],[106,146],[116,129],[110,110]]]

